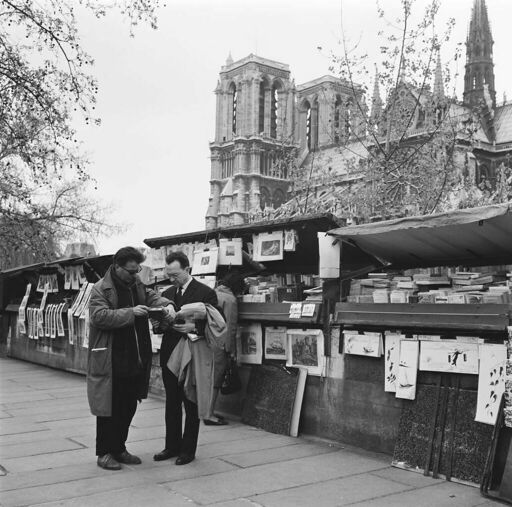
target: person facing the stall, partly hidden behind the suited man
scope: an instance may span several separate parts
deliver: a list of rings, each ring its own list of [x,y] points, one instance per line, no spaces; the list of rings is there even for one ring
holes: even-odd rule
[[[222,417],[214,414],[215,402],[219,395],[224,372],[228,366],[230,356],[236,356],[236,332],[238,326],[238,300],[237,296],[242,294],[245,288],[244,277],[238,272],[228,273],[218,282],[215,292],[219,301],[218,306],[224,313],[226,319],[226,334],[224,349],[215,352],[215,380],[212,400],[212,410],[204,423],[208,426],[223,426],[228,424]]]

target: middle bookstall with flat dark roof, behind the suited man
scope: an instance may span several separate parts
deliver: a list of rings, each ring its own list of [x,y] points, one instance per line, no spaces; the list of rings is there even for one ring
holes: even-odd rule
[[[296,373],[294,367],[307,371],[307,385],[318,383],[330,351],[329,314],[338,301],[339,284],[319,276],[318,234],[338,225],[332,215],[317,214],[145,240],[160,250],[161,262],[171,251],[185,252],[192,275],[211,287],[231,270],[246,276],[248,290],[239,297],[237,343],[244,389],[221,396],[219,410],[288,433],[282,430],[287,423],[280,418],[288,421],[290,414],[276,414],[284,405],[288,407],[284,412],[292,410],[297,386],[289,380]],[[157,266],[153,269],[158,272]],[[333,278],[337,276],[338,272]],[[158,374],[155,368],[155,391]],[[256,413],[258,395],[265,397],[263,404],[272,418]]]

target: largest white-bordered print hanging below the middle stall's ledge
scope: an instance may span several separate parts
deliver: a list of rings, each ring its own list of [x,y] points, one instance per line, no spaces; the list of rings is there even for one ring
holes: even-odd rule
[[[286,366],[305,366],[310,375],[324,371],[324,333],[320,329],[288,329]]]

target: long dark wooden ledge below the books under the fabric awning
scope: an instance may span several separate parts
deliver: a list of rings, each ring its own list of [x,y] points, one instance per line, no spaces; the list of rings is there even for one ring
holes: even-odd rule
[[[351,326],[504,332],[507,304],[337,303],[336,322]]]

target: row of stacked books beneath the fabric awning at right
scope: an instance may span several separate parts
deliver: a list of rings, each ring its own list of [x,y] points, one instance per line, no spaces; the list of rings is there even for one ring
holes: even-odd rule
[[[512,303],[512,272],[369,273],[352,280],[351,303]]]

